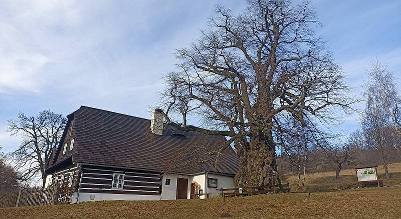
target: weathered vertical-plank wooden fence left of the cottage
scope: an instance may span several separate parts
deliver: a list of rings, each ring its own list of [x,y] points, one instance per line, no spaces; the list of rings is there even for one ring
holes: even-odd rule
[[[0,193],[0,207],[36,206],[71,203],[73,189],[58,185]]]

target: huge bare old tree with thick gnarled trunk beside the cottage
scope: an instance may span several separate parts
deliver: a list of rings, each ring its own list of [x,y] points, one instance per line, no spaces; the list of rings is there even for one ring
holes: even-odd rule
[[[198,40],[176,51],[177,70],[166,75],[162,106],[168,123],[228,138],[210,155],[235,147],[237,185],[266,185],[277,170],[276,148],[288,151],[288,120],[310,130],[333,119],[352,100],[339,66],[313,31],[309,3],[249,0],[239,15],[218,6]],[[178,119],[177,116],[182,116]],[[188,125],[188,116],[202,120]],[[319,132],[317,132],[319,133]]]

